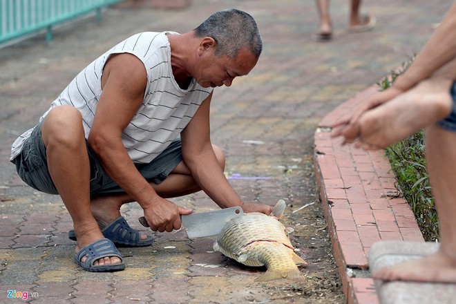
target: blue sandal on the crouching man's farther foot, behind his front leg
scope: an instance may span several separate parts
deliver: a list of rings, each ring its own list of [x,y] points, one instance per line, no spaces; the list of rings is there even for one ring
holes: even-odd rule
[[[140,232],[131,228],[123,216],[104,227],[102,234],[105,238],[112,240],[113,243],[127,247],[144,247],[153,243],[153,237],[151,236],[145,240],[141,240]],[[70,240],[77,240],[74,230],[68,232],[68,238]]]

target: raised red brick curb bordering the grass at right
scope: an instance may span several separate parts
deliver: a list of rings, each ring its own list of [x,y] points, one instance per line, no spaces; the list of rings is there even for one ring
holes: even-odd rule
[[[395,175],[384,151],[341,146],[330,126],[372,86],[326,115],[315,132],[314,168],[347,303],[379,303],[368,272],[368,251],[378,240],[423,241],[410,206],[395,196]]]

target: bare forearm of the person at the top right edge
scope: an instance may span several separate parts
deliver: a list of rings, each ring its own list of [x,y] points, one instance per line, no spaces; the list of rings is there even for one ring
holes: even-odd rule
[[[455,58],[456,2],[448,10],[440,26],[421,49],[415,61],[406,70],[406,73],[397,79],[395,86],[406,91],[421,82],[421,80],[433,75],[433,73]]]

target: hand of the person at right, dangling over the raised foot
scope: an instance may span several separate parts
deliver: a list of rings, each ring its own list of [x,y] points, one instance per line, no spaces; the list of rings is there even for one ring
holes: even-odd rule
[[[397,95],[403,93],[403,91],[399,88],[389,88],[386,91],[375,93],[368,97],[365,102],[359,104],[354,111],[348,115],[345,115],[340,120],[332,124],[332,137],[343,137],[342,144],[350,144],[359,140],[359,135],[361,133],[361,129],[359,126],[359,118],[363,113],[369,111],[372,108],[375,108],[389,100],[393,99]]]

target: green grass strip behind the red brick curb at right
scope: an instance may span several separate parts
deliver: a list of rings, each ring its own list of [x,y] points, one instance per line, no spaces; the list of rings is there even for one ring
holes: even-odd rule
[[[399,71],[393,71],[391,75],[381,79],[378,83],[381,90],[392,86],[395,79],[410,66],[412,60],[404,63]],[[389,146],[386,149],[386,156],[396,175],[396,188],[403,193],[403,197],[412,207],[424,239],[433,241],[439,239],[439,221],[429,184],[424,151],[424,130],[421,130],[417,134]]]

